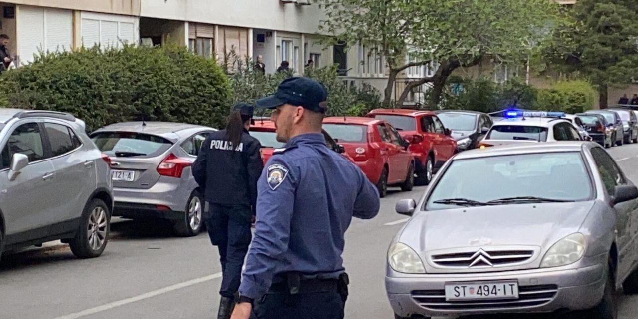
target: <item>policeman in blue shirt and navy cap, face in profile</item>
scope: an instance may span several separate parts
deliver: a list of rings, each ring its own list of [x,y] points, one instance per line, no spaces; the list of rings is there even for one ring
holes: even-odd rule
[[[348,277],[344,233],[352,216],[373,218],[379,194],[355,165],[325,145],[327,93],[309,78],[288,78],[258,107],[277,140],[257,183],[255,237],[231,318],[343,318]]]

